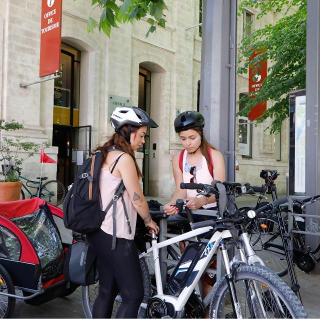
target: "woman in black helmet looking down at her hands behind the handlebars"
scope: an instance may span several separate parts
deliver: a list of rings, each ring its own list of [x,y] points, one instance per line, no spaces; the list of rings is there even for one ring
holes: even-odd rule
[[[174,120],[174,130],[179,134],[183,150],[172,157],[172,170],[175,191],[171,200],[164,206],[168,215],[177,212],[176,199],[187,199],[187,207],[196,210],[200,207],[215,206],[215,197],[196,197],[196,190],[181,190],[181,182],[211,183],[212,180],[225,180],[224,160],[204,136],[204,117],[197,111],[184,111]]]

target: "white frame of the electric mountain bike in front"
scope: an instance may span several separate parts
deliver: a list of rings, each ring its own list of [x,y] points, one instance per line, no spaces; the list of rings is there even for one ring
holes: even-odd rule
[[[154,273],[155,273],[155,282],[156,282],[156,289],[157,294],[153,297],[157,297],[161,300],[165,300],[166,302],[172,303],[175,311],[179,312],[183,310],[183,307],[188,300],[189,296],[193,292],[195,286],[197,285],[197,282],[199,281],[201,275],[207,268],[208,263],[210,262],[212,256],[214,253],[217,252],[217,248],[220,244],[220,242],[223,239],[229,239],[232,238],[232,235],[229,230],[223,230],[223,231],[215,231],[211,238],[209,239],[207,245],[205,246],[204,250],[201,253],[201,256],[197,263],[195,264],[193,268],[193,272],[196,272],[196,275],[187,282],[186,286],[182,289],[181,293],[178,296],[174,295],[167,295],[163,294],[163,287],[162,287],[162,281],[161,281],[161,273],[160,273],[160,263],[159,263],[159,249],[162,247],[165,247],[169,244],[173,244],[178,241],[186,240],[188,238],[194,237],[199,234],[203,234],[205,232],[208,232],[212,230],[212,227],[202,227],[195,230],[191,230],[189,232],[186,232],[181,235],[177,235],[175,237],[172,237],[170,239],[157,242],[156,237],[152,238],[151,240],[151,247],[147,249],[146,252],[143,252],[139,255],[139,257],[149,256],[152,252],[153,254],[153,262],[154,262]],[[225,252],[224,252],[225,251]],[[229,259],[226,253],[226,250],[222,250],[222,257],[224,266],[226,268],[226,273],[230,272],[229,268]],[[183,267],[186,267],[187,264],[183,264]],[[191,281],[192,279],[192,281]],[[208,293],[210,294],[210,292]]]

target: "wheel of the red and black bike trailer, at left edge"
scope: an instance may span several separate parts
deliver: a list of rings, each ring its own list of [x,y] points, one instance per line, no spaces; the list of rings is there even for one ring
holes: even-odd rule
[[[15,294],[13,282],[6,269],[0,265],[0,292]],[[15,306],[15,298],[0,295],[0,317],[11,318]]]

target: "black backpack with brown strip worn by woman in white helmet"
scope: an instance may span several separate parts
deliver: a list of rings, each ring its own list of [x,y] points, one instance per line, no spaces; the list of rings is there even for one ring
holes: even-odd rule
[[[107,149],[107,151],[120,150],[115,147]],[[123,153],[122,153],[123,154]],[[122,155],[121,154],[121,155]],[[121,156],[120,155],[120,156]],[[120,158],[118,156],[114,161],[111,173]],[[122,197],[125,189],[123,181],[119,183],[113,199],[107,205],[105,210],[102,210],[99,177],[100,169],[103,161],[103,153],[96,152],[93,156],[87,158],[77,172],[76,179],[71,188],[65,195],[63,201],[63,223],[68,229],[75,232],[88,234],[100,228],[104,220],[106,212],[113,205],[112,220],[113,220],[113,237],[112,249],[115,248],[115,209],[116,201],[121,197],[125,218],[128,224],[129,233],[131,233],[130,221],[126,212],[125,203]]]

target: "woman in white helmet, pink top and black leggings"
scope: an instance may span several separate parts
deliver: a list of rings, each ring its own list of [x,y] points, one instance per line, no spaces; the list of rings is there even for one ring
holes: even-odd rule
[[[115,247],[112,247],[112,207],[107,211],[100,229],[88,235],[89,244],[97,254],[99,274],[99,292],[93,304],[92,316],[110,318],[114,298],[120,292],[122,303],[116,317],[136,318],[144,294],[138,252],[133,240],[136,214],[141,216],[147,227],[156,232],[159,228],[150,217],[139,184],[142,174],[133,151],[144,143],[147,128],[158,125],[146,112],[134,106],[117,107],[110,120],[115,133],[96,149],[103,153],[104,158],[99,180],[102,208],[105,209],[112,200],[121,180],[125,186],[125,205],[119,203],[116,206]],[[112,152],[111,147],[114,147]]]

